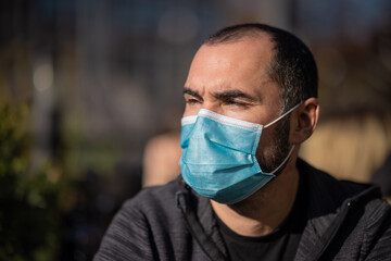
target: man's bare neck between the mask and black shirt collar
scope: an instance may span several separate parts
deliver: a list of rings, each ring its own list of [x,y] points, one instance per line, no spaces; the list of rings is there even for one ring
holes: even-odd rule
[[[275,231],[291,211],[299,187],[299,171],[294,162],[290,163],[275,179],[238,203],[211,200],[217,216],[242,236],[264,236]]]

